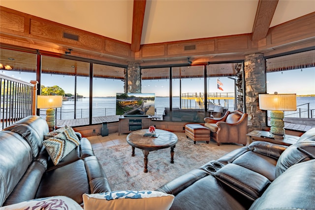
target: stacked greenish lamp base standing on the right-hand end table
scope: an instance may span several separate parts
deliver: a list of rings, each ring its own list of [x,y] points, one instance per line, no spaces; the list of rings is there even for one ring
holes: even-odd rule
[[[284,138],[284,112],[271,111],[270,118],[270,132],[272,134],[278,135],[279,138]]]

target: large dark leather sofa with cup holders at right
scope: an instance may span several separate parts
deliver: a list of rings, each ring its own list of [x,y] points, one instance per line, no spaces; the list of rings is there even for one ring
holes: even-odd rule
[[[315,128],[290,147],[256,141],[157,189],[170,210],[314,210]]]

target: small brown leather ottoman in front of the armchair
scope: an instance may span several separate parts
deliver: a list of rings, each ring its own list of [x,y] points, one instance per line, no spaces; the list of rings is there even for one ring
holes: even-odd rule
[[[193,144],[196,144],[196,141],[206,141],[209,144],[210,130],[201,124],[186,124],[185,134],[193,140]]]

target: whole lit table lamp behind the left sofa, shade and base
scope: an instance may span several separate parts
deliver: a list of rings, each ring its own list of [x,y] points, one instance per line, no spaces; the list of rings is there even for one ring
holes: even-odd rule
[[[63,106],[62,95],[37,95],[37,109],[46,110],[46,121],[49,127],[49,131],[55,130],[55,108]]]

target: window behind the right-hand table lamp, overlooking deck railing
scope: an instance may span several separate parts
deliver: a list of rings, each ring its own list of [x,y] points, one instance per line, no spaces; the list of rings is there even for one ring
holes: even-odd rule
[[[266,67],[267,93],[297,95],[297,110],[284,112],[284,128],[308,130],[307,119],[315,118],[315,50],[266,59]]]

